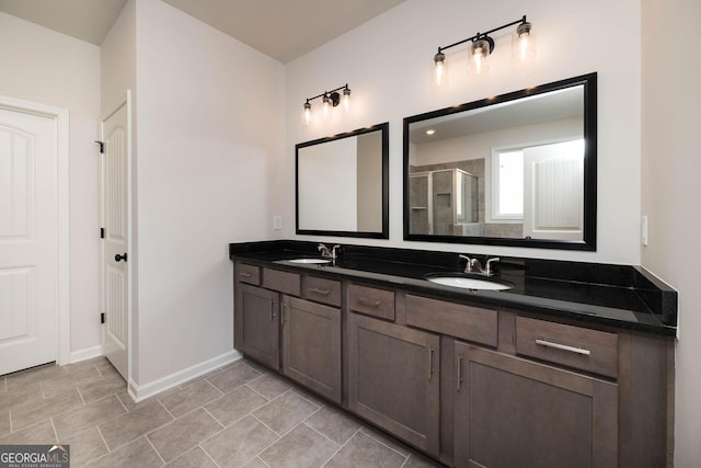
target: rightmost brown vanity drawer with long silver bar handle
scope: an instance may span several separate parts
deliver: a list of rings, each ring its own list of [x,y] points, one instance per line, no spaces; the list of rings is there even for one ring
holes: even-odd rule
[[[618,375],[616,333],[517,317],[516,353],[612,378]]]

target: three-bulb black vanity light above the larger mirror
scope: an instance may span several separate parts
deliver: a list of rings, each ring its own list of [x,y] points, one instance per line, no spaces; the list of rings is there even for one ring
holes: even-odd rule
[[[476,33],[474,36],[468,37],[467,39],[458,41],[457,43],[444,47],[438,47],[438,53],[434,56],[436,84],[443,84],[446,79],[446,54],[444,54],[444,50],[471,42],[471,67],[474,72],[483,73],[489,70],[489,58],[494,52],[494,39],[490,34],[515,25],[518,26],[516,27],[514,35],[513,58],[515,61],[527,61],[535,55],[536,49],[532,37],[532,24],[529,23],[526,20],[526,15],[524,15],[520,20],[495,27],[485,33]]]

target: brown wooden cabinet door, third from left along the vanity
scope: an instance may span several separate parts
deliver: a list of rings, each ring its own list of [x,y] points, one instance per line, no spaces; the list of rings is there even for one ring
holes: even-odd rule
[[[348,315],[348,408],[437,455],[439,338]]]

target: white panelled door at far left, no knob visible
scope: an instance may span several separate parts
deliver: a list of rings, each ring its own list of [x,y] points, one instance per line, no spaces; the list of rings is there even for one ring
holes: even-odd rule
[[[0,375],[57,359],[57,129],[0,107]]]

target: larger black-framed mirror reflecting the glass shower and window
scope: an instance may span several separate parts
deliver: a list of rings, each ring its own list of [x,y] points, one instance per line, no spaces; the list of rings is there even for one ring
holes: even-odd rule
[[[596,250],[596,79],[404,118],[404,239]]]

